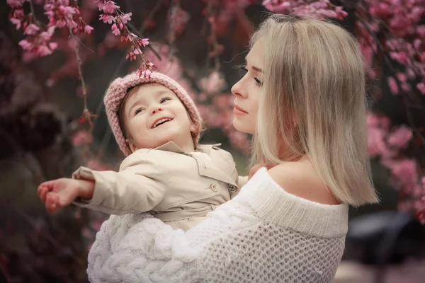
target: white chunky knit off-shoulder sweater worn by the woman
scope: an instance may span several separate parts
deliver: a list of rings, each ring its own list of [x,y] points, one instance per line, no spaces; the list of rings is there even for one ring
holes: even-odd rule
[[[149,214],[111,216],[89,253],[91,282],[333,282],[346,204],[285,192],[261,168],[186,233]]]

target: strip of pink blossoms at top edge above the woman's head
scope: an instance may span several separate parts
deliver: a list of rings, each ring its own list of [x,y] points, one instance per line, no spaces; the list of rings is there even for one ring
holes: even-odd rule
[[[329,0],[263,0],[263,6],[274,13],[317,15],[338,20],[347,16],[341,6],[334,6]]]

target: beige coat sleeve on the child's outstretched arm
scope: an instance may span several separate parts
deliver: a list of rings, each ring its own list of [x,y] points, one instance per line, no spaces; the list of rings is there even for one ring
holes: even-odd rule
[[[164,173],[164,161],[148,152],[149,149],[140,149],[125,158],[119,172],[78,168],[72,178],[92,180],[94,192],[91,197],[77,197],[72,203],[114,215],[139,214],[157,207],[169,189],[169,177]]]

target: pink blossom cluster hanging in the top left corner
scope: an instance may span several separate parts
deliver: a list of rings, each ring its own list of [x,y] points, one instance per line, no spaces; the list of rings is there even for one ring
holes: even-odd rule
[[[56,28],[70,28],[73,33],[91,33],[90,25],[86,25],[81,18],[79,6],[75,0],[45,0],[45,15],[49,23],[44,25],[35,18],[33,11],[27,15],[23,11],[23,4],[27,0],[7,0],[11,6],[11,23],[16,25],[16,29],[23,28],[26,37],[19,42],[19,45],[28,52],[29,57],[42,57],[57,48],[57,43],[52,42],[52,36]]]

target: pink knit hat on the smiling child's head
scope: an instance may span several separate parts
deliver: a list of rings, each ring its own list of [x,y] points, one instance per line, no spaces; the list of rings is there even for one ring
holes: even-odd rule
[[[183,105],[188,110],[189,116],[195,125],[196,137],[193,138],[195,143],[198,143],[202,128],[202,119],[199,115],[198,108],[196,108],[195,103],[193,103],[192,98],[188,95],[185,89],[179,85],[176,81],[160,74],[158,72],[153,72],[150,77],[141,76],[133,73],[129,74],[123,78],[115,79],[106,91],[105,98],[103,98],[103,103],[105,103],[106,115],[108,116],[109,125],[111,125],[112,132],[115,136],[120,149],[123,151],[125,156],[131,154],[131,150],[125,142],[125,137],[123,135],[123,130],[120,127],[120,119],[118,117],[118,110],[120,110],[121,102],[123,98],[128,93],[128,90],[133,86],[138,86],[143,83],[158,83],[166,88],[169,88],[171,91],[176,93],[176,96],[181,100]]]

